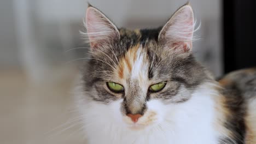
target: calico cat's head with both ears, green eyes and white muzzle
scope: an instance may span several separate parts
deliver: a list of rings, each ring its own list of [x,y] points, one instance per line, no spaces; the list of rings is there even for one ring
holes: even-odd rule
[[[85,26],[91,46],[83,71],[84,97],[90,101],[86,109],[91,109],[85,114],[91,121],[150,127],[170,118],[172,107],[187,103],[207,79],[191,53],[190,5],[179,8],[163,27],[133,31],[117,28],[90,6]]]

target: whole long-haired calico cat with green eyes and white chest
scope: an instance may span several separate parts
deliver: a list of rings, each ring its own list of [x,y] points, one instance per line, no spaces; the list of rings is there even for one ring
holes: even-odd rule
[[[131,31],[89,5],[77,95],[88,143],[256,143],[256,69],[215,81],[191,52],[194,23],[185,4]]]

